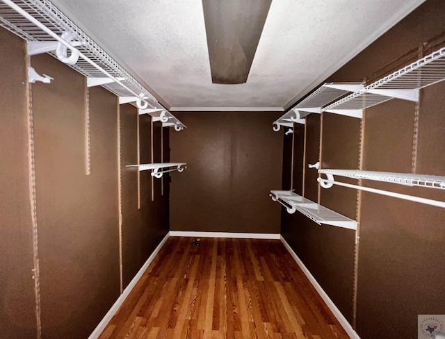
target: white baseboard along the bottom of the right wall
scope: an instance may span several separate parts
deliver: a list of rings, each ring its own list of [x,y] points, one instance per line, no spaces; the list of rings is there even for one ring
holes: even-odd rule
[[[325,301],[327,307],[330,308],[331,312],[334,314],[334,317],[337,318],[337,320],[339,321],[339,323],[341,324],[343,329],[346,331],[346,333],[348,333],[348,336],[350,336],[350,338],[352,338],[352,339],[360,339],[357,332],[353,329],[352,326],[350,326],[348,320],[346,320],[346,317],[344,317],[343,314],[341,314],[339,308],[337,308],[337,306],[335,306],[334,301],[332,301],[330,299],[330,297],[326,294],[326,292],[323,290],[323,288],[321,288],[318,281],[316,281],[316,279],[311,274],[311,272],[309,272],[309,270],[307,270],[307,267],[305,266],[305,264],[302,263],[300,258],[298,258],[297,254],[289,246],[289,244],[286,242],[286,240],[284,240],[284,238],[282,236],[280,238],[281,238],[281,241],[282,241],[284,247],[286,247],[286,249],[291,254],[292,258],[296,261],[298,266],[300,266],[301,270],[307,276],[307,279],[309,279],[309,281],[312,283],[312,286],[314,286],[314,288],[316,289],[316,291],[318,292],[320,297],[323,299],[323,301]]]

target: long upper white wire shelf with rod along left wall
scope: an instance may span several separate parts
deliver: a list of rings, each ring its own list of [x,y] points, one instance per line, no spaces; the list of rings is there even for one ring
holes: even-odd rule
[[[111,82],[102,83],[102,87],[120,98],[133,97],[143,102],[145,107],[161,108],[168,112],[156,98],[123,69],[111,56],[101,49],[81,29],[68,19],[53,3],[48,0],[0,0],[0,26],[28,42],[29,51],[41,53],[35,44],[57,43],[70,49],[79,56],[74,64],[66,63],[88,79],[111,78]],[[70,39],[62,38],[70,35]],[[72,40],[72,42],[71,42]],[[57,51],[46,51],[58,58]],[[126,101],[131,102],[131,101]],[[169,113],[171,115],[171,113]],[[177,126],[184,129],[184,124],[177,120]],[[178,127],[178,128],[179,128]]]

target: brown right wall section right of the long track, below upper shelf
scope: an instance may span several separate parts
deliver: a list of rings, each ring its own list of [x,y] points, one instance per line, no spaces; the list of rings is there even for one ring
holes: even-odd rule
[[[442,157],[437,154],[445,147],[444,138],[438,138],[443,126],[438,112],[445,104],[444,88],[441,83],[421,91],[419,147],[414,161],[420,174],[445,175]],[[411,172],[414,112],[414,104],[399,100],[366,111],[366,169]],[[442,190],[371,181],[365,185],[445,201]],[[364,338],[371,338],[371,333],[411,338],[417,331],[417,315],[444,313],[445,298],[437,293],[442,289],[440,275],[445,269],[444,217],[443,208],[363,195],[357,331],[364,333]],[[376,326],[380,318],[401,327],[396,330],[387,322]]]

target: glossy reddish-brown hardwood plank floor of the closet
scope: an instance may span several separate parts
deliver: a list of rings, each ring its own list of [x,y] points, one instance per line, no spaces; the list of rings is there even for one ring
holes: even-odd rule
[[[169,238],[100,339],[348,338],[280,240]]]

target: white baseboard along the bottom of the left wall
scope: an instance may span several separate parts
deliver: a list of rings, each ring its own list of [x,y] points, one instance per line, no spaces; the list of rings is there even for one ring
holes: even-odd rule
[[[154,257],[156,254],[159,253],[167,239],[170,238],[170,235],[167,233],[163,240],[159,243],[159,245],[154,249],[153,253],[147,261],[145,261],[145,264],[143,267],[140,267],[139,272],[134,276],[133,279],[131,279],[130,283],[128,284],[127,288],[125,288],[124,292],[122,292],[122,295],[118,297],[118,299],[115,301],[113,306],[111,306],[110,310],[106,313],[106,315],[102,318],[101,322],[96,326],[95,330],[92,331],[88,339],[97,339],[101,335],[101,333],[104,331],[106,325],[108,325],[108,322],[110,322],[111,318],[115,313],[118,311],[122,303],[125,299],[127,299],[128,295],[130,294],[131,290],[133,290],[134,286],[136,286],[136,283],[139,281],[139,279],[143,276],[144,272],[147,270],[148,266],[152,263]]]

